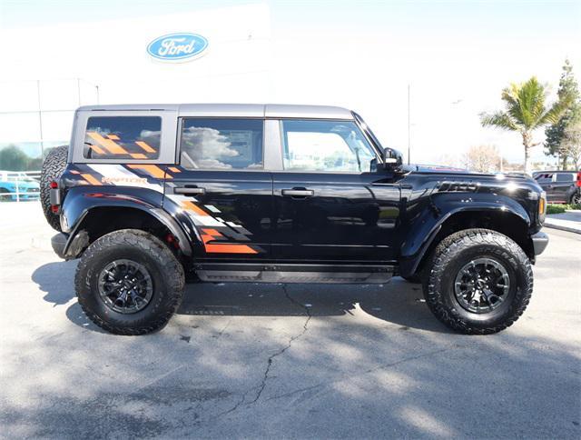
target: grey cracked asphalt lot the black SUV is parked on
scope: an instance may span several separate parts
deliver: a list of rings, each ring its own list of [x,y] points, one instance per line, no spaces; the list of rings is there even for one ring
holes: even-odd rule
[[[0,205],[0,436],[581,435],[581,235],[548,230],[527,312],[456,335],[418,285],[189,285],[162,332],[85,319],[36,203]]]

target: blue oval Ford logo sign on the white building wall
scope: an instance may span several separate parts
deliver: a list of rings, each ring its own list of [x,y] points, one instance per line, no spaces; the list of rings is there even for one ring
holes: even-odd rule
[[[197,34],[169,34],[155,38],[147,52],[162,61],[192,60],[202,56],[208,47],[208,40]]]

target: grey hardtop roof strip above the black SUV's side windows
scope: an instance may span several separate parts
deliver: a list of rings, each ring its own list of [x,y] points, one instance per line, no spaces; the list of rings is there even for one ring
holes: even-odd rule
[[[287,104],[123,104],[84,105],[81,112],[172,111],[180,116],[289,117],[319,119],[353,119],[350,110],[330,105]]]

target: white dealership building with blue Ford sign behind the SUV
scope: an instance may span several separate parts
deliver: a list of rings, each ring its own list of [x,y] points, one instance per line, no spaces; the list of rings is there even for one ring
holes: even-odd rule
[[[31,158],[68,144],[80,105],[271,96],[265,4],[5,29],[2,37],[10,44],[0,72],[0,149],[15,145]]]

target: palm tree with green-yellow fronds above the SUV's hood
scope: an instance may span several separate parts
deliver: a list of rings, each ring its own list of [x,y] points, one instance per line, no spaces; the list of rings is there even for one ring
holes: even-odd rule
[[[502,91],[505,111],[492,114],[481,113],[482,126],[495,126],[520,133],[525,146],[525,172],[530,174],[530,149],[540,143],[533,143],[533,132],[544,125],[556,124],[565,113],[571,99],[564,96],[547,107],[547,89],[533,76],[526,83],[511,84]]]

